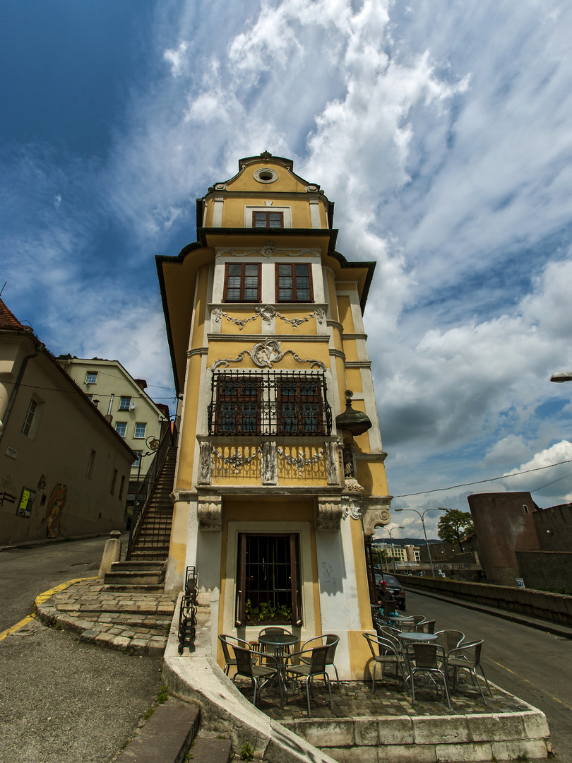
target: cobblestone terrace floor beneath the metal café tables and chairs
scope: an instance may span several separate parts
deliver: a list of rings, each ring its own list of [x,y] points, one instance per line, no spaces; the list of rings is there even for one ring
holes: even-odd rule
[[[246,680],[245,680],[246,681]],[[252,687],[242,678],[236,679],[239,691],[252,701]],[[280,708],[278,688],[270,685],[262,689],[256,699],[256,706],[267,716],[288,724],[288,721],[307,718],[307,700],[305,684],[300,684],[302,691],[290,689],[284,700],[284,710]],[[376,681],[375,693],[371,691],[371,683],[362,681],[342,681],[342,697],[337,691],[337,685],[332,682],[333,710],[329,708],[328,690],[323,682],[314,681],[310,690],[310,710],[313,718],[335,719],[364,716],[459,716],[474,713],[516,713],[529,710],[529,706],[504,694],[494,686],[493,697],[483,687],[487,705],[480,699],[479,691],[468,678],[459,680],[458,691],[451,693],[451,710],[443,698],[442,689],[430,687],[425,681],[416,681],[415,704],[403,690],[403,684],[397,683],[391,674],[387,674],[383,684]],[[435,691],[434,691],[435,690]]]

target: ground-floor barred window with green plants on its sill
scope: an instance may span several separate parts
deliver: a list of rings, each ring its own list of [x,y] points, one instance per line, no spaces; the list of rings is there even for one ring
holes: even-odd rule
[[[239,533],[236,626],[300,626],[300,551],[297,533]]]

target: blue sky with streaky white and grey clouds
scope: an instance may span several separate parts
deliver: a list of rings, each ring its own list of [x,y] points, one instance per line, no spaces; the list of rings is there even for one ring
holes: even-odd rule
[[[2,298],[172,403],[155,255],[240,157],[288,156],[336,201],[339,251],[378,262],[394,507],[570,501],[572,383],[548,380],[572,369],[571,27],[566,0],[5,4]]]

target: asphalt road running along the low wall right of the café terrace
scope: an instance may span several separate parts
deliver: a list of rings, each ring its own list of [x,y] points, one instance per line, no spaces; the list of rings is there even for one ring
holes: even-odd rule
[[[572,640],[407,591],[407,613],[484,639],[489,681],[545,713],[557,763],[572,763]]]

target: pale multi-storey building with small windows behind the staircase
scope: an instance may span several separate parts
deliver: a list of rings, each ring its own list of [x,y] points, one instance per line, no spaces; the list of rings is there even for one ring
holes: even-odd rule
[[[152,453],[149,443],[169,427],[169,407],[153,402],[144,379],[136,379],[118,360],[60,356],[58,362],[121,435],[136,459],[131,464],[127,500],[133,502],[137,481],[146,475]]]

